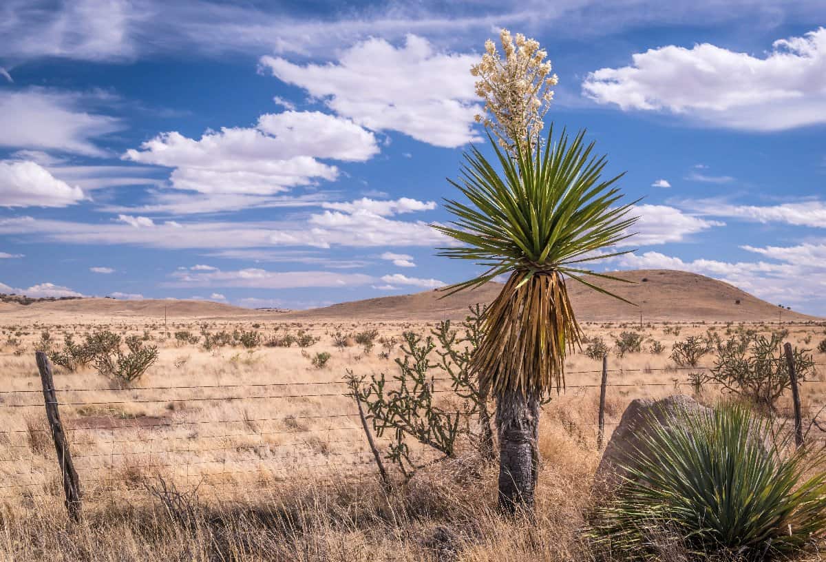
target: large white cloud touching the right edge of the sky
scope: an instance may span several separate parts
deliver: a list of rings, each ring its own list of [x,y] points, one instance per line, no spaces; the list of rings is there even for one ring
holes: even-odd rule
[[[712,126],[780,131],[826,123],[826,28],[776,40],[765,57],[703,43],[667,45],[604,68],[586,96],[623,110],[667,111]]]

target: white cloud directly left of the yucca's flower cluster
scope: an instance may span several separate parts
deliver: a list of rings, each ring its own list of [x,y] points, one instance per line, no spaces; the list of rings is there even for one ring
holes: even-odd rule
[[[365,40],[331,64],[261,58],[273,76],[306,89],[359,125],[445,147],[479,138],[472,128],[473,116],[480,112],[470,75],[476,62],[477,55],[438,52],[413,35],[399,47],[383,39]]]

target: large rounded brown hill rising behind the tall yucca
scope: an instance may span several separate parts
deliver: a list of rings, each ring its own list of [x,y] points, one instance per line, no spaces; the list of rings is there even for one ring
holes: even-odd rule
[[[819,318],[781,309],[776,304],[754,297],[729,283],[704,275],[671,269],[638,269],[613,272],[624,283],[610,279],[587,278],[601,288],[634,302],[632,306],[597,293],[582,283],[568,280],[568,292],[577,319],[584,321],[809,321]],[[472,291],[444,297],[439,289],[344,302],[331,307],[288,312],[282,319],[295,320],[381,320],[436,321],[466,316],[468,305],[491,302],[501,291],[500,283],[487,283]]]

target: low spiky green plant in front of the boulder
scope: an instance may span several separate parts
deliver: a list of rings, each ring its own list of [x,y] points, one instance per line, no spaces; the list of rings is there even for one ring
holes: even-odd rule
[[[824,536],[822,453],[767,450],[771,421],[748,407],[676,416],[651,424],[622,463],[628,479],[599,512],[598,543],[628,560],[662,560],[657,536],[691,560],[786,560]]]

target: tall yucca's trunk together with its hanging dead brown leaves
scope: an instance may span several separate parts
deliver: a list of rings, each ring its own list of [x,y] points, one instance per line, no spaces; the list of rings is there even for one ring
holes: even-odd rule
[[[512,274],[491,304],[473,358],[482,388],[496,397],[499,506],[509,513],[534,511],[540,398],[562,387],[566,348],[581,337],[563,276],[523,279],[524,271]]]

